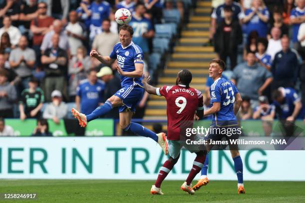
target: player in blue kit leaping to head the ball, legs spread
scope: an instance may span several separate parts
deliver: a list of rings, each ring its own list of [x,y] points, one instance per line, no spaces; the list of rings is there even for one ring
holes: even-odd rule
[[[138,123],[131,122],[137,103],[144,94],[142,75],[143,75],[143,51],[132,41],[134,30],[130,25],[124,24],[120,27],[120,41],[117,43],[110,56],[101,56],[97,51],[92,50],[90,56],[98,59],[101,63],[110,65],[116,59],[118,73],[120,74],[122,88],[104,105],[97,107],[92,113],[85,115],[72,108],[72,114],[78,119],[82,127],[86,127],[91,120],[105,115],[113,107],[120,106],[120,127],[126,131],[150,137],[157,142],[165,155],[168,153],[167,141],[164,133],[155,134],[151,130]]]

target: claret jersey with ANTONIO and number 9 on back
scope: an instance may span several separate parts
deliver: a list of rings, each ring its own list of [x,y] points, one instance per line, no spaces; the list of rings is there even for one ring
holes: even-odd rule
[[[185,88],[184,85],[175,85],[157,88],[156,94],[165,97],[167,102],[167,139],[181,140],[181,125],[192,127],[195,111],[203,110],[201,92],[194,88]]]

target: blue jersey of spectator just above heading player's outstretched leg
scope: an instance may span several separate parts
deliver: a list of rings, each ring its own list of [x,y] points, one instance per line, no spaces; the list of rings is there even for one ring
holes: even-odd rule
[[[76,89],[76,94],[81,98],[81,111],[90,114],[103,102],[105,83],[98,80],[94,85],[88,79],[82,80]]]

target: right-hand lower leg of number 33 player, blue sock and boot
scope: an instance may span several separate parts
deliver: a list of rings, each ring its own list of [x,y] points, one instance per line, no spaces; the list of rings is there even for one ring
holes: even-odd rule
[[[234,168],[237,175],[237,193],[238,194],[245,194],[244,188],[244,180],[243,180],[243,162],[240,158],[238,146],[237,145],[229,145],[231,156],[234,161]]]

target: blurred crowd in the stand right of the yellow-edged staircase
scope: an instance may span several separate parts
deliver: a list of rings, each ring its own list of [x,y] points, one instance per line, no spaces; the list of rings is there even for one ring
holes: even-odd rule
[[[305,0],[212,0],[212,6],[203,46],[213,45],[228,62],[224,75],[243,97],[239,119],[304,119]],[[208,79],[207,98],[212,84]]]

